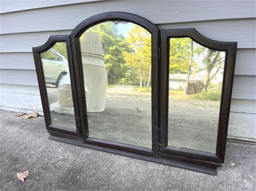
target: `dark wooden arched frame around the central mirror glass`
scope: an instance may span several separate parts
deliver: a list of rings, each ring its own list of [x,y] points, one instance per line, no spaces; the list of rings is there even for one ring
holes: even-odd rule
[[[152,77],[151,77],[151,140],[152,148],[143,148],[135,145],[129,145],[124,143],[116,143],[109,140],[102,140],[97,138],[89,137],[88,133],[88,122],[87,122],[87,109],[86,109],[86,96],[83,80],[83,67],[82,67],[82,57],[80,49],[80,37],[81,35],[90,27],[96,24],[107,22],[107,21],[126,21],[137,24],[151,33],[151,64],[152,64]],[[75,76],[77,82],[78,91],[78,102],[81,103],[80,116],[81,116],[81,128],[83,130],[83,142],[89,144],[95,144],[102,147],[114,148],[125,150],[127,152],[134,152],[139,154],[151,155],[158,157],[159,145],[159,29],[155,24],[147,21],[145,18],[136,16],[135,14],[122,13],[122,12],[110,12],[97,14],[92,16],[85,21],[78,24],[78,26],[72,31],[71,43],[72,52],[75,65]]]

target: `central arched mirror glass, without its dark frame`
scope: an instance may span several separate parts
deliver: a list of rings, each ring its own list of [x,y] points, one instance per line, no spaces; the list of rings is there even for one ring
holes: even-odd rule
[[[151,148],[151,34],[107,21],[80,37],[89,137]]]

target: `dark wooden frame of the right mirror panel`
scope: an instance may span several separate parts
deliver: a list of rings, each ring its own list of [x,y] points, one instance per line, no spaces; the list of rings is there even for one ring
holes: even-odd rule
[[[168,106],[169,106],[169,51],[170,38],[190,37],[196,43],[215,51],[225,52],[223,86],[221,92],[218,135],[216,153],[170,147],[168,145]],[[236,42],[218,42],[202,36],[194,28],[171,29],[161,31],[161,92],[160,92],[160,157],[171,160],[184,160],[188,163],[198,162],[200,165],[211,164],[213,170],[224,162],[225,144],[227,142],[228,120],[232,96],[233,76],[235,68]]]

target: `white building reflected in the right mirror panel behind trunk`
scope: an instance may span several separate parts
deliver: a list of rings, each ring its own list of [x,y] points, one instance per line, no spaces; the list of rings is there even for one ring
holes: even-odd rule
[[[184,90],[186,84],[187,74],[170,74],[169,75],[169,89]],[[193,74],[189,77],[190,81],[201,81],[200,78]]]

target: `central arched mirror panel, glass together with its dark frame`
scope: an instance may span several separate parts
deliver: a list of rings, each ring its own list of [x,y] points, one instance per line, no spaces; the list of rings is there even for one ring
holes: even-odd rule
[[[158,33],[146,19],[119,12],[86,19],[71,33],[86,143],[157,155]]]

